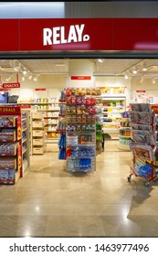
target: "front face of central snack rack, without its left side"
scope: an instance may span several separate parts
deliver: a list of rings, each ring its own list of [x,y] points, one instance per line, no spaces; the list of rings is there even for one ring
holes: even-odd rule
[[[82,173],[95,171],[96,98],[86,94],[80,95],[78,98],[76,95],[78,89],[73,90],[75,94],[68,97],[70,90],[66,89],[67,170],[68,172]],[[84,91],[84,89],[80,91]],[[90,128],[92,128],[91,131],[86,131]]]

